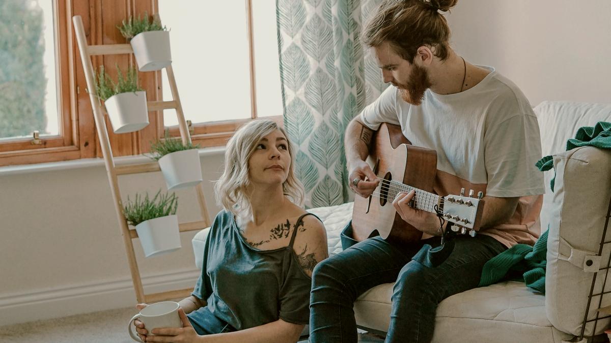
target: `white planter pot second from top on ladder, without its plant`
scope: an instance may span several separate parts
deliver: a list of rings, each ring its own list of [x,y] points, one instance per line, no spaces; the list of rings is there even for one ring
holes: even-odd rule
[[[148,125],[147,92],[120,93],[104,101],[115,134],[138,131]]]

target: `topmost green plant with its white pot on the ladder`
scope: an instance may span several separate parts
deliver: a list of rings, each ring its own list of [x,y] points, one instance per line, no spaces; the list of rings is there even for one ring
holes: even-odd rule
[[[117,28],[130,41],[140,71],[161,70],[172,63],[170,32],[158,20],[150,21],[147,12],[144,18],[130,16]]]

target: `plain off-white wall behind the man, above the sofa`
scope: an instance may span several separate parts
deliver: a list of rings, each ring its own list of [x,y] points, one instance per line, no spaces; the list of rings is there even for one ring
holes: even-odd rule
[[[461,0],[447,18],[453,48],[496,67],[533,106],[611,102],[611,1]]]

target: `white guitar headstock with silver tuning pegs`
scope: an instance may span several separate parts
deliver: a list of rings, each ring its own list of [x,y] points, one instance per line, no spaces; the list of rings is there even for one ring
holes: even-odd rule
[[[475,236],[484,205],[482,196],[483,193],[479,192],[477,197],[474,197],[473,190],[470,190],[469,196],[465,197],[463,188],[460,195],[450,194],[444,197],[444,218],[458,225],[456,228],[452,226],[453,231],[461,230],[461,233],[465,234],[468,230],[470,236]]]

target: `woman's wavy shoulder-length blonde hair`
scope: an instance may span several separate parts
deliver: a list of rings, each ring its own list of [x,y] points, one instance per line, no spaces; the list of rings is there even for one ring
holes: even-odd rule
[[[243,125],[227,142],[225,150],[225,170],[221,178],[214,184],[216,201],[226,211],[238,215],[239,212],[251,209],[248,187],[249,178],[248,161],[257,148],[258,142],[271,132],[280,130],[287,138],[288,154],[291,156],[291,165],[288,168],[287,179],[282,184],[282,192],[295,204],[303,203],[304,188],[295,177],[295,155],[293,145],[288,139],[287,132],[272,120],[253,120]]]

